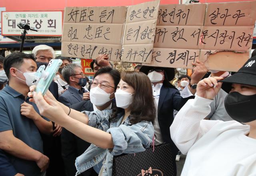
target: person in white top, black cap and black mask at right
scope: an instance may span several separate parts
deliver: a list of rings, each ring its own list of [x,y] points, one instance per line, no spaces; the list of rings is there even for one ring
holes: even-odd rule
[[[171,138],[187,154],[182,176],[256,175],[256,57],[223,80],[209,77],[197,85],[170,126]],[[232,84],[224,105],[234,120],[204,120],[224,84]]]

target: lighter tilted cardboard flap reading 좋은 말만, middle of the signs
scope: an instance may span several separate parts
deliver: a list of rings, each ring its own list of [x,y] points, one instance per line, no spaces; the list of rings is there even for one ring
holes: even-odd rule
[[[122,43],[123,62],[151,63],[159,1],[128,6]]]

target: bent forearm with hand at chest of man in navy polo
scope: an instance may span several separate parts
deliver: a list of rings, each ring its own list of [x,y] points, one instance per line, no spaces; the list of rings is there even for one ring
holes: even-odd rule
[[[31,104],[26,102],[21,104],[20,108],[21,115],[32,119],[41,133],[49,135],[52,133],[52,122],[47,121],[39,115]]]

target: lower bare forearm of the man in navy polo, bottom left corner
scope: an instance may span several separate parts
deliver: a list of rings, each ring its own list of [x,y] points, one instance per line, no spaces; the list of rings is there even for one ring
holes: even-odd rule
[[[49,158],[14,137],[12,130],[0,132],[0,149],[17,158],[36,162],[41,171],[48,168]]]

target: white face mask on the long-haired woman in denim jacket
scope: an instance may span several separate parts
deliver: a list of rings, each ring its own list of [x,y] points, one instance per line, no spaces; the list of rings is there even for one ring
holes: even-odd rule
[[[116,106],[119,108],[126,109],[132,104],[133,94],[124,90],[118,89],[115,93]]]

